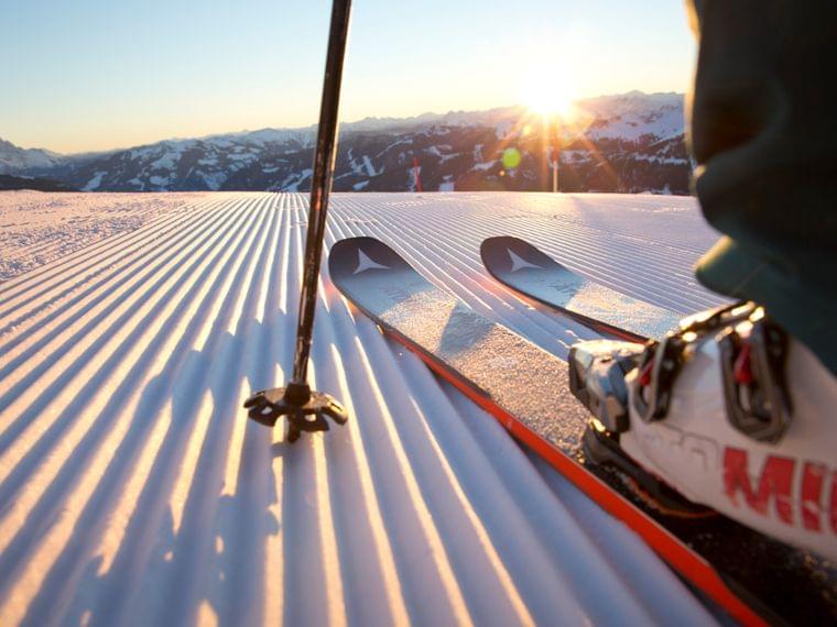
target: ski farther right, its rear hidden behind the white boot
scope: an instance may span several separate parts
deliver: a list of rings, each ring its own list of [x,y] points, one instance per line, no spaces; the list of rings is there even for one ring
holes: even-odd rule
[[[503,285],[610,336],[640,342],[660,338],[682,318],[585,278],[518,238],[489,238],[480,255]]]

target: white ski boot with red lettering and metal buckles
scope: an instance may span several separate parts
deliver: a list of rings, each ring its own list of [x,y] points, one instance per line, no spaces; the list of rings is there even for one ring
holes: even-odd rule
[[[595,417],[587,454],[660,509],[702,515],[667,484],[837,561],[837,378],[761,307],[687,318],[648,345],[583,342],[569,364]]]

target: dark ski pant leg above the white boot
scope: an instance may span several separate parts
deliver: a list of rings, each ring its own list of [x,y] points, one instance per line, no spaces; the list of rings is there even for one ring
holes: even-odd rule
[[[707,287],[758,301],[837,373],[837,2],[688,0]]]

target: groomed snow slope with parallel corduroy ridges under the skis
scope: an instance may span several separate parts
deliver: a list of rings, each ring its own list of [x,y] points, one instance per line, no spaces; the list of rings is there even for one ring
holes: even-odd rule
[[[207,195],[0,284],[0,625],[711,623],[325,264],[312,372],[350,421],[287,446],[246,419],[291,370],[306,205]],[[483,238],[719,301],[691,276],[716,234],[689,198],[334,195],[327,246],[360,234],[562,356],[594,333],[492,280]]]

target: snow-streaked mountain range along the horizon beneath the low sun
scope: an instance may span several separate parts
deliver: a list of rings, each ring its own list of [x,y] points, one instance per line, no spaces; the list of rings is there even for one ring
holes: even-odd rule
[[[343,124],[335,189],[550,189],[550,146],[556,145],[562,190],[688,194],[682,95],[632,91],[583,100],[576,108],[575,121],[561,128],[522,107]],[[308,127],[167,140],[53,155],[19,173],[97,191],[305,191],[315,139],[316,128]]]

